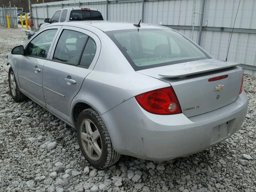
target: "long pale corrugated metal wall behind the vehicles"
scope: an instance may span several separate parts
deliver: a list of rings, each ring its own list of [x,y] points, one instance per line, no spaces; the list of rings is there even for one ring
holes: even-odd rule
[[[195,42],[198,42],[203,11],[200,45],[219,60],[226,60],[236,18],[227,60],[242,63],[245,73],[256,76],[256,0],[67,0],[33,4],[35,28],[44,18],[51,18],[56,10],[66,7],[97,8],[105,20],[138,22],[142,19],[162,24]]]

